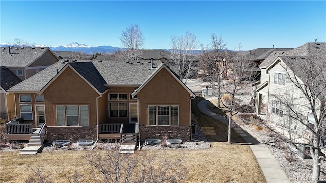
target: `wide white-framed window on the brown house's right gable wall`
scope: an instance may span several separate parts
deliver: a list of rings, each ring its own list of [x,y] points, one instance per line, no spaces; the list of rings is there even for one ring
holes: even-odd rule
[[[149,105],[148,125],[179,125],[179,106]]]

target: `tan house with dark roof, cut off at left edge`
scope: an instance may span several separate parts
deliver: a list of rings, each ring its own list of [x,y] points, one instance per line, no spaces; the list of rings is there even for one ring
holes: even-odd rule
[[[15,115],[14,94],[7,90],[21,82],[10,69],[5,66],[0,67],[0,118],[12,119]]]

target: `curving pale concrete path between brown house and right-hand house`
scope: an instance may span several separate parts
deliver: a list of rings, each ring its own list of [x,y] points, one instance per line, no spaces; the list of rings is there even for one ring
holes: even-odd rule
[[[215,114],[214,112],[210,111],[207,108],[208,100],[200,101],[197,106],[198,109],[212,117],[216,120],[223,122],[224,124],[228,125],[228,121],[226,118],[222,117],[219,114]],[[283,183],[283,182],[290,182],[288,177],[286,176],[285,172],[282,170],[280,165],[278,164],[275,157],[270,153],[268,147],[265,144],[262,144],[262,141],[255,137],[255,134],[251,131],[245,129],[241,126],[241,128],[235,128],[234,130],[242,136],[242,138],[249,144],[249,147],[253,151],[257,162],[265,176],[267,183]]]

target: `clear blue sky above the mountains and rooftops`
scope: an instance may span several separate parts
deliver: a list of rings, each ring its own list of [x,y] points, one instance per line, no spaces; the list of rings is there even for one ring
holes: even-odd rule
[[[120,47],[138,24],[145,49],[170,48],[189,31],[207,45],[214,32],[229,49],[296,48],[326,42],[326,1],[0,1],[0,43]]]

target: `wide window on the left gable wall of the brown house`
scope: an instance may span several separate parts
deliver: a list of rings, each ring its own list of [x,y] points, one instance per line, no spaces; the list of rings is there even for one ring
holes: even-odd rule
[[[89,110],[87,105],[57,105],[57,126],[88,126]]]

